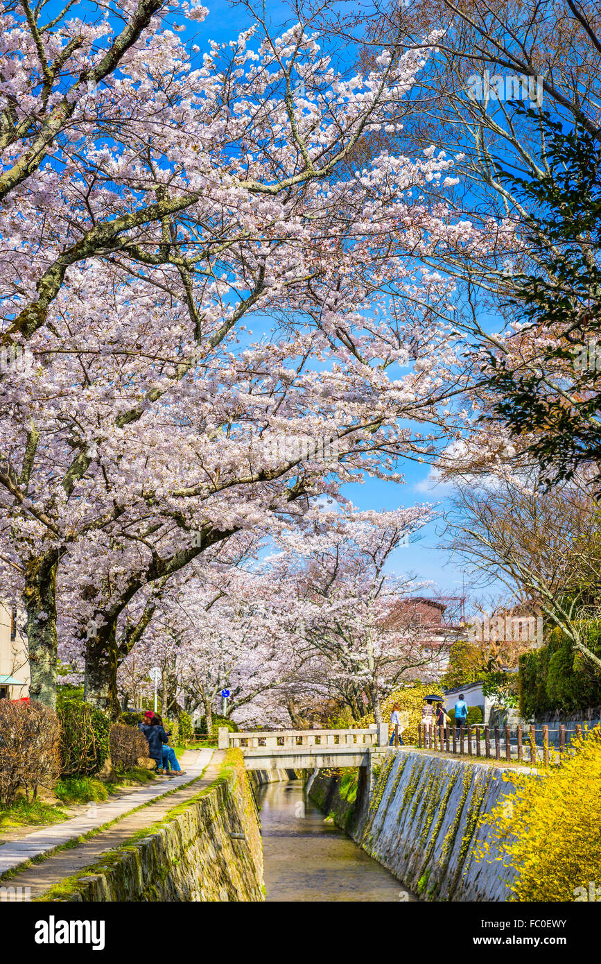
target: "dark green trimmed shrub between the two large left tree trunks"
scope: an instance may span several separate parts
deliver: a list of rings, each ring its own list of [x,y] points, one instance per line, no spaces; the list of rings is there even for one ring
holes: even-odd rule
[[[62,775],[92,776],[109,756],[109,717],[90,703],[75,700],[62,700],[57,712],[61,723]]]

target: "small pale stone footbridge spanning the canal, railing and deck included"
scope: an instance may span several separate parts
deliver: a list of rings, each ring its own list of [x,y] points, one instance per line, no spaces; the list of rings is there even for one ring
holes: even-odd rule
[[[248,770],[313,770],[328,766],[364,766],[371,770],[388,744],[388,726],[366,730],[273,730],[230,733],[220,727],[218,746],[239,747]]]

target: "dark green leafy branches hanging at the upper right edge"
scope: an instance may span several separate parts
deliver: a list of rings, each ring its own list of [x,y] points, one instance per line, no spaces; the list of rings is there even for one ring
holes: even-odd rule
[[[526,221],[533,271],[514,278],[518,331],[492,339],[492,412],[483,417],[525,439],[547,485],[592,467],[599,488],[601,147],[583,127],[564,131],[549,115],[542,123],[549,147],[539,176],[503,174],[534,212]]]

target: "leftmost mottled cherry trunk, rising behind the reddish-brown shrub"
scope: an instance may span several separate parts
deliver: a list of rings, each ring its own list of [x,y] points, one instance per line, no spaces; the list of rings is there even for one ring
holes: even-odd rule
[[[27,615],[27,640],[32,700],[56,707],[57,628],[56,573],[60,549],[30,560],[25,569],[23,603]]]

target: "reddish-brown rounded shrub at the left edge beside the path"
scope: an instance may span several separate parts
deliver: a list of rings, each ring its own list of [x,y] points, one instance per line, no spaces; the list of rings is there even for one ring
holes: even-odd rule
[[[0,804],[12,807],[19,788],[33,802],[39,787],[59,778],[61,731],[54,710],[0,700]]]

